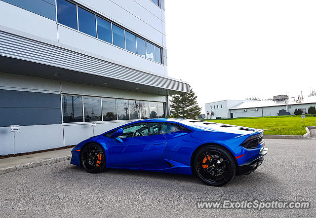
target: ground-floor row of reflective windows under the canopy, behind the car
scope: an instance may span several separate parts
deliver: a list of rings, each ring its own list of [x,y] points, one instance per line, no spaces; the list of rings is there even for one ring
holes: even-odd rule
[[[62,95],[63,122],[95,122],[166,117],[166,104],[140,100]]]

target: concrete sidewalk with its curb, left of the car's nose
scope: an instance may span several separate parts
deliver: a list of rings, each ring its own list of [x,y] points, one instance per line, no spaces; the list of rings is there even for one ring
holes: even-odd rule
[[[71,149],[67,148],[0,159],[0,174],[69,160],[71,159]]]

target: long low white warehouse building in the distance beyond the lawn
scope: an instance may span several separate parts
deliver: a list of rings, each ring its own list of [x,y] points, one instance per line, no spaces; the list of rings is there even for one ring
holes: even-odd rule
[[[206,114],[207,112],[210,114],[210,117],[213,113],[214,118],[238,118],[277,116],[284,112],[287,115],[294,115],[295,109],[307,113],[308,108],[313,106],[316,107],[316,96],[309,96],[297,101],[295,99],[282,101],[224,100],[205,104],[205,111]]]

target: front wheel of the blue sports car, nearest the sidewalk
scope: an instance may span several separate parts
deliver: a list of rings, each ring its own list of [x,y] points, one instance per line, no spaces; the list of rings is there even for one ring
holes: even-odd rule
[[[100,173],[105,169],[105,153],[101,145],[88,144],[80,152],[81,166],[89,173]]]

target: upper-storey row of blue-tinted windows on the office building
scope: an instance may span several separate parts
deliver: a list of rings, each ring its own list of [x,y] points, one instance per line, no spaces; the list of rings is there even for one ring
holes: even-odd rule
[[[83,9],[79,5],[77,11],[77,5],[67,0],[57,0],[57,21],[67,27],[98,37],[103,41],[162,64],[160,47],[118,27],[111,21],[101,18],[94,12]]]

